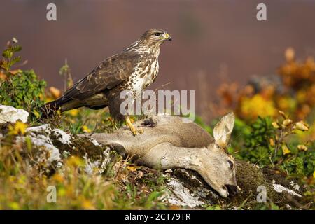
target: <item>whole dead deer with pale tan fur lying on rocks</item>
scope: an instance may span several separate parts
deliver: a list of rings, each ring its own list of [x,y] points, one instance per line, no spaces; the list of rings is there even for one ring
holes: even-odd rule
[[[123,128],[113,134],[91,137],[122,154],[137,155],[140,165],[195,170],[222,197],[227,197],[230,186],[239,189],[234,159],[225,151],[234,121],[234,113],[224,116],[214,128],[214,139],[202,127],[175,116],[138,121],[135,126],[142,127],[144,134],[137,136]]]

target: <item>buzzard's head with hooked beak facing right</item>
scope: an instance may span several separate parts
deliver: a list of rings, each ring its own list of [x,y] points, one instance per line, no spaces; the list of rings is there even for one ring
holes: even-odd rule
[[[149,29],[142,36],[141,40],[153,45],[161,45],[165,41],[171,41],[172,38],[167,34],[167,31],[162,29]]]

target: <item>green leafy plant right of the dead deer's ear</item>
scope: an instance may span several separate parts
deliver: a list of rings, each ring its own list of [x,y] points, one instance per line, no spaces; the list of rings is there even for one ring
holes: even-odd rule
[[[278,167],[290,176],[311,176],[315,169],[314,141],[301,144],[298,132],[309,126],[300,120],[293,122],[282,111],[280,117],[258,117],[251,125],[235,122],[230,151],[240,160],[262,167]]]

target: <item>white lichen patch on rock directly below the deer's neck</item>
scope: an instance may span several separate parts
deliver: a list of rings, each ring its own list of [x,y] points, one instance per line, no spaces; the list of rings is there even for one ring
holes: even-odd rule
[[[198,207],[204,204],[199,200],[194,193],[190,193],[190,190],[183,186],[183,183],[171,178],[167,182],[167,187],[171,190],[171,194],[167,197],[169,204],[175,204],[181,207]]]

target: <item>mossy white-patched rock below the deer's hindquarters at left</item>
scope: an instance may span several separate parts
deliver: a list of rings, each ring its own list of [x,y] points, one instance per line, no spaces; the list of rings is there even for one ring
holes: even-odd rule
[[[109,147],[102,146],[92,138],[78,138],[71,134],[53,128],[48,124],[27,128],[25,137],[17,137],[17,143],[25,143],[31,140],[31,150],[36,161],[34,168],[45,165],[46,174],[54,172],[54,169],[62,168],[64,159],[70,155],[77,155],[85,161],[85,172],[92,174],[97,169],[98,173],[104,172],[109,162]]]

